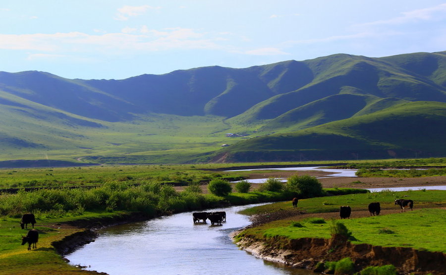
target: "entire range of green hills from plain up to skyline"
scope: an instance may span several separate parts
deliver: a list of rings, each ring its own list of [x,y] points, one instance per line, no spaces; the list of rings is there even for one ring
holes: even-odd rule
[[[0,161],[445,156],[446,52],[338,54],[122,80],[0,72],[0,114]]]

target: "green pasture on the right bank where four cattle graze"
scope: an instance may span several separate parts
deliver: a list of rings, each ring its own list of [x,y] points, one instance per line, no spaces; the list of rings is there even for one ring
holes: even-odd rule
[[[410,196],[414,201],[414,210],[400,213],[394,199]],[[380,202],[385,214],[370,216],[367,206],[371,202]],[[341,222],[352,232],[352,243],[368,243],[379,246],[412,247],[419,250],[446,253],[444,232],[446,226],[446,191],[419,190],[405,192],[377,192],[370,194],[352,194],[335,197],[321,197],[299,200],[298,207],[307,213],[319,213],[312,217],[293,216],[258,227],[249,228],[240,233],[242,236],[270,238],[282,236],[297,238],[330,238],[331,218],[327,213],[337,212],[339,206],[352,208],[350,219]],[[247,209],[248,213],[275,212],[290,207],[289,202],[281,202]],[[392,213],[389,213],[391,210]],[[358,211],[358,212],[356,212]],[[338,216],[335,216],[338,219]]]

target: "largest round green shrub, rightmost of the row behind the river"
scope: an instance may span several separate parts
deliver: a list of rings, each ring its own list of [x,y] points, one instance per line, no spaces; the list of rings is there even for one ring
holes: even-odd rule
[[[320,197],[323,195],[322,184],[315,177],[309,175],[293,175],[286,181],[286,188],[300,194],[304,198]]]

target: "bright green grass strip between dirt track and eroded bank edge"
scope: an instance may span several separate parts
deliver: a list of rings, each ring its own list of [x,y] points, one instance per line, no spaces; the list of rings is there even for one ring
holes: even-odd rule
[[[368,243],[378,246],[412,247],[419,250],[446,253],[444,232],[445,209],[426,208],[406,213],[346,219],[341,222],[357,240],[354,244]],[[416,222],[415,222],[416,221]],[[301,221],[303,227],[274,227],[264,231],[266,237],[285,236],[296,238],[327,238],[330,222],[312,223]]]

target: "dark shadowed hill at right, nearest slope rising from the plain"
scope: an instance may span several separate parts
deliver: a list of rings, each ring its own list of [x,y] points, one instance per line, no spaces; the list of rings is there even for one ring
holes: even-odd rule
[[[446,103],[409,102],[355,118],[238,142],[213,161],[444,156]]]

